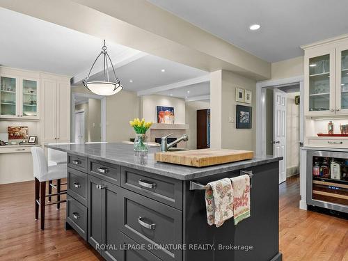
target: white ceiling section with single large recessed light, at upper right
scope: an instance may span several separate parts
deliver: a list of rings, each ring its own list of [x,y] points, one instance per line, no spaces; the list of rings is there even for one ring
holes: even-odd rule
[[[348,33],[347,0],[148,0],[251,54],[275,62],[300,45]],[[251,24],[261,24],[250,31]]]

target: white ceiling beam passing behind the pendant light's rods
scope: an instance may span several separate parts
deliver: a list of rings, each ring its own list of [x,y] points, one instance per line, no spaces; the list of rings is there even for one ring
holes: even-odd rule
[[[118,54],[118,56],[111,57],[111,61],[113,62],[113,68],[115,68],[115,70],[116,70],[117,68],[120,68],[123,65],[127,65],[128,63],[132,63],[133,61],[136,61],[136,60],[138,60],[144,56],[147,56],[147,55],[148,54],[141,52],[141,51],[138,51],[138,50],[126,49],[125,51]],[[92,66],[92,64],[90,64],[90,66]],[[111,66],[109,65],[109,68],[110,67]],[[90,78],[93,79],[93,78],[101,77],[102,74],[104,73],[103,69],[104,68],[103,68],[102,63],[95,64],[92,72],[90,72]],[[74,77],[72,77],[70,83],[72,85],[81,84],[82,80],[87,77],[89,70],[90,70],[90,68],[88,68],[84,72],[81,72],[81,73],[75,75]]]

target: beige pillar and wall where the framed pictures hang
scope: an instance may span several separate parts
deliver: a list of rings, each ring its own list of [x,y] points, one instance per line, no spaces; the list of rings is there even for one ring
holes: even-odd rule
[[[228,71],[216,71],[210,79],[212,148],[254,150],[256,141],[255,88],[256,81]],[[235,88],[252,91],[252,128],[236,129],[228,119],[236,118]],[[248,104],[242,104],[248,106]],[[237,120],[237,119],[235,119]]]

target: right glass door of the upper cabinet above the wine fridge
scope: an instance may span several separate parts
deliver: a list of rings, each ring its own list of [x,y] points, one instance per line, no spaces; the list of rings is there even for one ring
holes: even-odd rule
[[[336,48],[336,114],[348,114],[348,44]]]

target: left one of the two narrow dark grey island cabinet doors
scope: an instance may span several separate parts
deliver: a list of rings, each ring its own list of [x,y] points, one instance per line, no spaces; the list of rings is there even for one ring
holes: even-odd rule
[[[103,244],[102,240],[102,193],[104,189],[98,188],[102,180],[88,175],[88,243],[102,254],[97,245]]]

